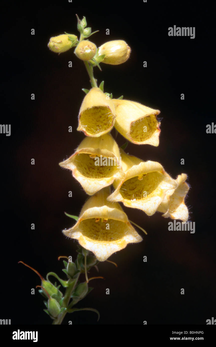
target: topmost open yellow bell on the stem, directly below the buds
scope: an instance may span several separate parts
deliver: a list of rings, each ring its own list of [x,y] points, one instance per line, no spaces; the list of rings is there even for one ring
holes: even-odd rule
[[[110,132],[114,121],[115,108],[112,100],[100,88],[92,88],[81,104],[77,130],[83,131],[86,136],[98,137]]]

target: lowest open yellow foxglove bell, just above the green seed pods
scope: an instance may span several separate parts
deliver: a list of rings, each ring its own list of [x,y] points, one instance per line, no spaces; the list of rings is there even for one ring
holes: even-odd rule
[[[64,235],[77,239],[99,261],[105,261],[128,243],[142,240],[121,206],[106,200],[109,194],[110,189],[106,187],[91,196],[84,204],[75,226],[63,230]]]

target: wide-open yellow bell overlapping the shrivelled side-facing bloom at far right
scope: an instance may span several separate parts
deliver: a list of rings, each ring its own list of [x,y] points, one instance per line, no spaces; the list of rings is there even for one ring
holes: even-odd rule
[[[121,201],[125,206],[154,214],[166,192],[176,188],[175,180],[155,161],[144,162],[122,150],[121,158],[126,177],[113,182],[115,191],[108,200]]]

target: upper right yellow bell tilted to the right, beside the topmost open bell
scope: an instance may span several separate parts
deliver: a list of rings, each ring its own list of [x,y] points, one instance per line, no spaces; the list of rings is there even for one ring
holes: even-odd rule
[[[128,141],[138,145],[158,146],[160,123],[159,110],[154,110],[138,102],[112,99],[115,105],[115,128]]]

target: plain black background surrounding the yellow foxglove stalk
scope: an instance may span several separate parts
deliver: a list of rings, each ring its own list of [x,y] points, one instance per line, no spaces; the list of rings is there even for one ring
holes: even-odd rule
[[[201,5],[200,5],[201,4]],[[51,36],[77,33],[76,16],[86,16],[97,46],[123,39],[131,47],[122,65],[95,68],[98,82],[115,98],[161,110],[159,146],[129,144],[127,151],[143,160],[160,162],[176,178],[187,173],[186,199],[195,234],[168,231],[169,219],[155,213],[124,211],[143,227],[143,241],[128,245],[98,265],[94,290],[77,307],[100,311],[67,315],[63,324],[206,324],[215,317],[215,57],[213,9],[208,1],[37,1],[28,6],[3,6],[1,30],[1,124],[11,124],[11,136],[1,141],[1,319],[11,324],[50,324],[43,298],[31,288],[40,279],[19,260],[45,277],[62,275],[59,255],[76,257],[77,241],[61,232],[74,221],[87,195],[69,170],[58,163],[74,153],[84,138],[77,116],[89,88],[84,64],[73,49],[54,54]],[[170,26],[196,27],[195,39],[169,37]],[[31,29],[35,35],[31,35]],[[106,35],[106,29],[110,35]],[[72,61],[72,68],[68,61]],[[143,67],[147,61],[147,68]],[[35,100],[31,100],[35,93]],[[185,100],[180,99],[184,93]],[[68,126],[73,132],[68,132]],[[112,132],[114,134],[114,132]],[[125,139],[119,134],[121,146]],[[35,165],[31,165],[31,158]],[[184,166],[180,164],[184,158]],[[68,191],[72,191],[72,198]],[[31,230],[35,223],[35,230]],[[147,263],[143,256],[147,256]],[[95,269],[92,276],[97,276]],[[84,280],[84,278],[83,278]],[[110,288],[110,295],[106,295]],[[185,294],[180,290],[184,288]]]

